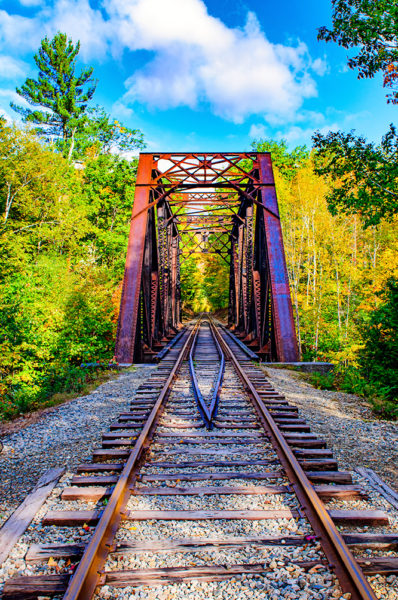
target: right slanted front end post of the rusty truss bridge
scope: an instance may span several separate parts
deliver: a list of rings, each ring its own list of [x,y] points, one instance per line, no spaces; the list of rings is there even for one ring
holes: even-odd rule
[[[295,362],[299,360],[299,352],[271,155],[259,154],[258,160],[260,182],[268,184],[261,187],[260,194],[261,203],[265,208],[264,228],[268,252],[277,360]]]

